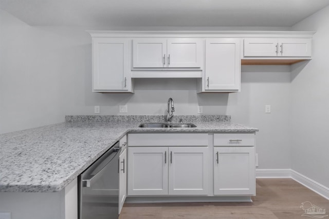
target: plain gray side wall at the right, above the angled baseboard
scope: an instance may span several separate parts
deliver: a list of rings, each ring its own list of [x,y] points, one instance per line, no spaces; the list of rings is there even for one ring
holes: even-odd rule
[[[291,74],[292,168],[329,187],[329,7],[294,26],[315,30],[313,59]]]

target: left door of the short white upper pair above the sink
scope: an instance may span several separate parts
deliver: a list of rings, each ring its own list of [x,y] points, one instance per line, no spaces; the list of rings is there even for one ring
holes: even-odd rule
[[[163,68],[167,66],[167,39],[133,39],[134,68]]]

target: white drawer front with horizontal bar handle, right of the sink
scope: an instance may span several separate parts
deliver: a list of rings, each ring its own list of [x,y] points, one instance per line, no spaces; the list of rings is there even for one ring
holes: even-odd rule
[[[214,134],[214,146],[254,146],[253,133]]]

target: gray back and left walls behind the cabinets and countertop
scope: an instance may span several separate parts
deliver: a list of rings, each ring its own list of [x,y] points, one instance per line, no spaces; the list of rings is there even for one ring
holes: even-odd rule
[[[30,27],[0,12],[0,133],[94,114],[94,105],[106,115],[124,104],[128,114],[163,115],[173,97],[176,115],[197,114],[200,105],[204,114],[259,128],[259,168],[291,167],[289,66],[243,66],[239,93],[197,94],[195,79],[136,79],[135,94],[93,93],[91,38],[83,28]],[[272,113],[265,114],[266,104]]]

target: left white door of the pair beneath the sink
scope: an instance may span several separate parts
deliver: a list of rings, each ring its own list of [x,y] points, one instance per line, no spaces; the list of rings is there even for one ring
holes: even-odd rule
[[[128,159],[128,195],[168,194],[168,147],[132,147]]]

